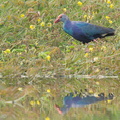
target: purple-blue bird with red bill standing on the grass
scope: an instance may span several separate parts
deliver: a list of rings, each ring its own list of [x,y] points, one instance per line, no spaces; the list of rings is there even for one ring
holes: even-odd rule
[[[97,38],[104,38],[115,34],[115,30],[112,28],[101,27],[81,21],[70,21],[65,14],[60,14],[54,23],[60,21],[63,22],[63,30],[83,44],[94,41]]]

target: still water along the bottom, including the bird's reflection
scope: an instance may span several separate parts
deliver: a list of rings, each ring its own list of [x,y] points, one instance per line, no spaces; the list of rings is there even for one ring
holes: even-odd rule
[[[74,104],[60,114],[71,99]],[[120,120],[120,81],[63,77],[1,79],[0,108],[0,120]]]

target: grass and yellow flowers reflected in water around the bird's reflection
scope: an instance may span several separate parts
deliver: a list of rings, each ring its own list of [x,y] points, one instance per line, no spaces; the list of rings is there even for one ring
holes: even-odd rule
[[[22,81],[23,79],[20,79]],[[27,81],[27,80],[26,80]],[[110,83],[111,82],[111,85]],[[105,95],[109,92],[115,94],[115,99],[113,101],[100,102],[94,105],[86,106],[84,108],[70,109],[68,114],[66,114],[63,120],[74,116],[75,118],[83,117],[83,120],[86,120],[86,117],[89,115],[89,118],[95,119],[100,117],[114,116],[116,118],[119,116],[119,104],[120,98],[118,97],[119,93],[119,81],[118,80],[94,80],[94,79],[36,79],[32,81],[33,85],[25,85],[23,87],[8,87],[1,86],[4,88],[0,90],[0,104],[1,111],[0,116],[4,114],[6,119],[13,116],[17,118],[29,119],[35,118],[45,119],[47,117],[51,119],[61,120],[59,114],[57,114],[54,105],[57,103],[59,106],[62,106],[62,99],[69,92],[75,92],[75,97],[81,92],[81,88],[89,89],[89,94],[97,96],[98,93],[104,92]],[[2,84],[1,84],[2,85]],[[103,86],[104,85],[104,86]],[[82,91],[83,96],[86,96],[86,92]],[[16,101],[14,104],[11,104],[12,101]],[[3,101],[3,104],[2,104]],[[10,104],[7,104],[7,101],[10,101]],[[6,102],[6,103],[5,103]],[[11,111],[11,112],[10,112]],[[104,113],[103,113],[104,111]],[[87,114],[84,114],[87,113]],[[109,114],[108,114],[109,113]],[[28,117],[29,116],[29,117]],[[87,118],[89,120],[89,118]]]

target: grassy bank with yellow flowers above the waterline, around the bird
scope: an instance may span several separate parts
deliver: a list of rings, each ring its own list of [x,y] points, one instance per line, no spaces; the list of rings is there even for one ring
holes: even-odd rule
[[[118,75],[118,1],[112,2],[114,8],[109,8],[104,1],[94,1],[94,4],[83,1],[81,6],[77,2],[1,1],[0,64],[4,77],[23,73],[34,76],[39,71],[41,74],[46,74],[46,71],[57,74],[61,71],[58,68],[64,69],[62,74],[96,74],[95,68],[98,68],[100,72],[97,74]],[[86,46],[64,33],[61,23],[53,24],[64,8],[70,19],[115,28],[116,36],[105,38],[97,44],[89,43],[87,46],[93,51],[84,57]],[[109,17],[106,19],[106,16]],[[41,26],[41,23],[45,25]],[[33,28],[30,28],[31,25]],[[98,62],[89,62],[95,57],[99,58]]]

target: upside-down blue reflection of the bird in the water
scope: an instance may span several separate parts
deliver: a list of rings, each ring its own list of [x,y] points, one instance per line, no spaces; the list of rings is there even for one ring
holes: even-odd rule
[[[65,114],[69,111],[70,108],[84,107],[99,101],[112,100],[113,98],[114,95],[112,93],[109,93],[106,97],[104,93],[97,95],[89,94],[85,89],[85,91],[81,92],[80,94],[77,94],[77,92],[68,94],[63,99],[63,107],[55,105],[55,108],[59,114]]]

